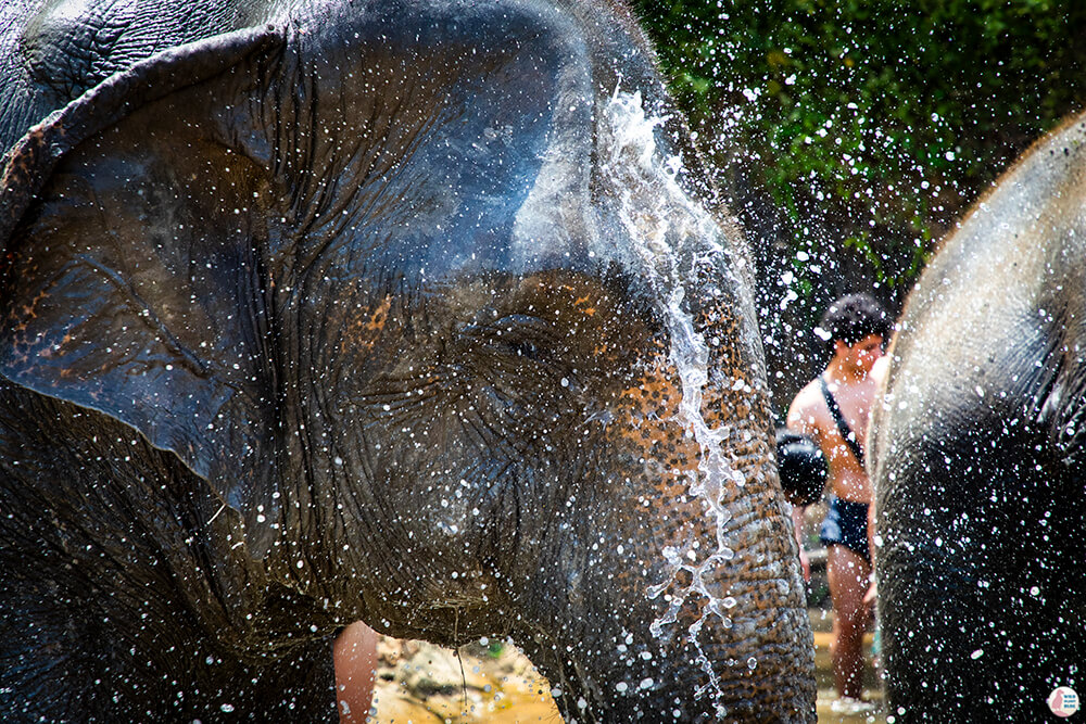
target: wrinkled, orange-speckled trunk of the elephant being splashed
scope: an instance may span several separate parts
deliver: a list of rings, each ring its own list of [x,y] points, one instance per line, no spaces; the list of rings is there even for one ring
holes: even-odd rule
[[[543,609],[533,660],[577,721],[813,721],[798,557],[745,354],[758,351],[698,331],[756,339],[735,309],[702,309],[687,340],[672,327],[669,359],[623,392],[614,414],[630,419],[596,445],[611,473],[577,492],[590,512],[556,551],[564,577],[527,587]],[[684,358],[690,342],[700,352]]]

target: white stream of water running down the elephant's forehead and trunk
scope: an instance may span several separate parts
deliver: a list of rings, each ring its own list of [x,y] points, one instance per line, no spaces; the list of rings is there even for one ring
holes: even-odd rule
[[[717,597],[709,589],[706,577],[735,555],[725,542],[725,523],[731,515],[721,505],[720,497],[727,485],[743,485],[745,480],[724,455],[723,443],[734,434],[734,429],[710,428],[702,417],[703,392],[709,383],[710,350],[684,302],[691,280],[716,278],[716,275],[699,272],[730,269],[733,259],[719,242],[721,234],[716,219],[693,203],[680,187],[677,177],[682,168],[681,160],[665,158],[657,150],[656,129],[666,119],[646,115],[640,93],[616,89],[604,109],[603,120],[602,167],[620,200],[618,221],[633,240],[640,257],[636,266],[644,270],[655,299],[659,300],[671,338],[670,361],[679,373],[682,390],[674,422],[683,427],[684,433],[693,437],[702,450],[697,470],[686,473],[689,490],[704,500],[716,522],[712,550],[698,550],[693,547],[693,541],[687,541],[682,549],[665,548],[668,579],[652,586],[648,597],[655,599],[670,589],[671,600],[667,611],[652,623],[649,632],[656,638],[661,637],[665,627],[677,623],[679,611],[687,600],[705,601],[699,619],[689,627],[698,663],[709,679],[708,686],[696,695],[709,694],[719,710],[723,697],[720,677],[702,647],[699,634],[712,615],[719,618],[720,625],[732,625],[729,609],[735,606],[735,599]],[[711,285],[697,291],[698,294],[719,294]],[[685,586],[679,583],[683,571],[691,577]]]

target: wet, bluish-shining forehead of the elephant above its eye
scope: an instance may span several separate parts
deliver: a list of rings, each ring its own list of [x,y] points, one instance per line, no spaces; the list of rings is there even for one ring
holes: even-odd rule
[[[673,287],[680,250],[720,254],[717,220],[678,178],[667,111],[643,100],[655,87],[598,87],[569,14],[370,10],[300,21],[291,86],[306,90],[280,100],[303,127],[276,144],[305,141],[283,160],[283,264],[349,257],[419,282],[614,266]]]

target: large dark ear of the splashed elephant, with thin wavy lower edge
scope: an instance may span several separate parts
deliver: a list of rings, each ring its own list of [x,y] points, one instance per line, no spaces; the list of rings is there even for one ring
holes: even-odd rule
[[[244,513],[257,555],[278,498],[260,175],[199,113],[280,37],[240,30],[110,77],[8,152],[0,196],[0,374],[176,454]]]

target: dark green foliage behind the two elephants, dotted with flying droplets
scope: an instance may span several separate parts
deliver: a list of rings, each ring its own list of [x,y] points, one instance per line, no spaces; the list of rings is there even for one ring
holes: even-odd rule
[[[895,314],[938,240],[1086,107],[1081,0],[640,0],[758,262],[775,408],[836,296]],[[778,409],[778,414],[783,414]]]

